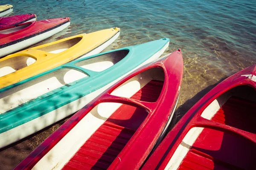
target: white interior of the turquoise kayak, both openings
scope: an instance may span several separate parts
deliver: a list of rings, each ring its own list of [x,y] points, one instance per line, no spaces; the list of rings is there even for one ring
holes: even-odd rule
[[[128,50],[114,51],[76,62],[76,65],[91,71],[104,71],[105,69],[110,68],[117,62],[121,61],[128,54],[128,52]],[[3,62],[5,61],[6,60]],[[15,62],[16,61],[17,60],[15,60]],[[25,62],[27,62],[25,57],[22,61],[23,65],[25,65]],[[2,64],[2,62],[0,63]],[[89,77],[89,75],[79,69],[70,67],[60,68],[21,85],[17,85],[9,90],[3,91],[0,93],[0,105],[3,106],[0,108],[0,114],[35,99],[38,96],[43,94],[47,95],[47,92],[53,91],[53,93],[56,93],[57,91],[61,91],[65,87],[76,84],[80,79],[85,77]],[[33,93],[31,93],[31,91],[33,91]],[[51,94],[52,93],[49,95]]]

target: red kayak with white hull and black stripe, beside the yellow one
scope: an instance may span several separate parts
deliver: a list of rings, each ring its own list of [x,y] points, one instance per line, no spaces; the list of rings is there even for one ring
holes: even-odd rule
[[[68,17],[0,28],[0,57],[45,40],[70,25]]]

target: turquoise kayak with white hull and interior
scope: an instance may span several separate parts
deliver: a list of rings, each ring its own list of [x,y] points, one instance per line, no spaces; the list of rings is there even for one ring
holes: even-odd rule
[[[77,59],[0,89],[0,147],[79,111],[134,69],[160,57],[169,39]]]

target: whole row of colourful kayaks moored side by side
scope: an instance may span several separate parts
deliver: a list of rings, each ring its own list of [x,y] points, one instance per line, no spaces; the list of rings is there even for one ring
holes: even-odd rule
[[[168,38],[101,53],[119,37],[114,27],[27,48],[70,18],[1,17],[12,11],[0,6],[0,148],[73,114],[16,170],[255,169],[255,64],[164,138],[183,77],[180,49],[161,57]]]

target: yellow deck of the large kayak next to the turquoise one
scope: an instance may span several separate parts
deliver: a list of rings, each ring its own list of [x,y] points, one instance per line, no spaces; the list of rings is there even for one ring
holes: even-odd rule
[[[92,51],[93,49],[99,47],[100,45],[104,44],[105,42],[110,40],[114,35],[116,35],[119,31],[120,31],[119,28],[110,28],[110,29],[92,32],[89,34],[79,34],[73,37],[68,37],[55,42],[50,42],[44,45],[39,45],[33,48],[29,48],[29,49],[17,52],[15,54],[10,54],[0,59],[0,69],[3,67],[11,66],[13,69],[17,71],[7,75],[4,74],[3,77],[0,77],[0,89],[5,88],[9,85],[13,85],[17,82],[23,81],[25,79],[28,79],[30,77],[33,77],[37,74],[48,71],[52,68],[63,65],[74,59],[77,59],[83,56],[84,54],[87,54],[88,52]],[[79,39],[79,37],[81,40]],[[77,42],[72,47],[58,54],[47,52],[47,51],[50,51],[49,47],[47,51],[44,51],[47,48],[47,46],[52,45],[51,47],[56,47],[58,45],[61,45],[60,42],[64,42],[70,39],[74,39],[74,40],[79,39],[79,42]],[[25,66],[22,66],[22,65],[20,66],[20,65],[17,65],[17,63],[14,63],[20,59],[20,57],[18,56],[24,56],[25,58],[31,57],[36,61],[33,64],[28,66],[27,64]],[[17,58],[14,58],[14,57],[17,57]]]

